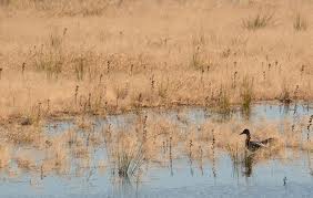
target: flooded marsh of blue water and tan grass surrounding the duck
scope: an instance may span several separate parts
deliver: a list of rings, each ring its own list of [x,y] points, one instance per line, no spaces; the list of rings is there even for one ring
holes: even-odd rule
[[[21,187],[21,195],[49,195],[51,183],[65,185],[58,185],[60,194],[68,194],[69,188],[72,194],[91,194],[92,188],[92,194],[144,196],[155,187],[171,194],[172,188],[185,185],[191,191],[199,190],[181,177],[201,186],[228,180],[231,188],[239,183],[249,186],[251,180],[260,191],[263,181],[255,178],[264,176],[267,186],[283,186],[286,177],[306,188],[313,173],[313,106],[263,103],[252,105],[250,113],[248,119],[240,106],[226,117],[199,107],[150,108],[105,118],[82,116],[38,128],[23,126],[23,131],[17,127],[2,134],[7,142],[0,149],[1,195],[16,186]],[[240,135],[248,126],[253,139],[273,137],[276,144],[249,152]],[[293,170],[272,173],[269,167]],[[261,174],[264,171],[272,177]],[[161,185],[166,180],[175,181]]]

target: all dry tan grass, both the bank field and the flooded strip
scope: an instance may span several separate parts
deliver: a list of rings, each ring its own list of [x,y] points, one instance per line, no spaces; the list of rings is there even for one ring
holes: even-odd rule
[[[216,150],[241,163],[244,127],[254,139],[281,139],[259,161],[286,147],[312,150],[301,134],[307,123],[285,124],[284,133],[276,123],[233,119],[190,126],[182,112],[176,123],[140,115],[131,128],[95,132],[89,119],[144,107],[199,105],[230,115],[258,101],[312,101],[312,9],[296,0],[0,0],[0,137],[47,152],[34,163],[2,145],[0,167],[16,159],[44,177],[69,173],[74,159],[79,175],[103,144],[120,176],[182,155],[215,164]],[[73,116],[77,126],[62,135],[42,133],[46,121]]]

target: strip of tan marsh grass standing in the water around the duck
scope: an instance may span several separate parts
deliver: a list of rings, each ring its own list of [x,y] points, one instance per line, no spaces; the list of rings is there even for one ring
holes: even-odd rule
[[[95,168],[102,169],[105,164],[105,167],[112,167],[114,179],[124,181],[140,177],[144,173],[144,165],[166,166],[173,175],[174,161],[182,156],[189,159],[191,174],[195,173],[194,165],[204,174],[204,164],[210,163],[213,176],[216,177],[216,159],[220,154],[230,157],[234,170],[240,171],[242,168],[243,174],[250,176],[256,164],[272,159],[283,160],[285,148],[312,150],[313,145],[312,142],[303,142],[301,135],[301,127],[312,124],[310,116],[292,125],[286,119],[283,122],[283,132],[277,129],[282,127],[281,122],[264,121],[249,125],[252,139],[261,140],[269,137],[277,139],[275,145],[261,149],[251,157],[246,155],[244,137],[239,135],[242,128],[246,127],[244,121],[233,118],[221,124],[210,119],[195,125],[188,121],[189,117],[183,112],[180,112],[176,121],[169,121],[162,115],[148,115],[138,113],[135,123],[129,125],[128,129],[122,125],[112,127],[110,124],[97,129],[91,118],[82,117],[75,122],[72,129],[53,136],[41,134],[40,137],[34,133],[32,142],[23,143],[28,146],[21,147],[18,154],[12,154],[9,146],[0,147],[1,167],[7,167],[9,161],[14,159],[13,163],[19,169],[40,173],[40,177],[44,178],[50,174],[67,175],[72,166],[77,166],[75,176],[81,177],[82,173],[91,167],[91,161],[95,160],[94,150],[102,149],[104,145],[108,160],[95,161]],[[189,129],[179,129],[180,125],[176,122],[184,124]],[[28,149],[30,145],[44,157],[37,159],[38,156],[30,155]]]

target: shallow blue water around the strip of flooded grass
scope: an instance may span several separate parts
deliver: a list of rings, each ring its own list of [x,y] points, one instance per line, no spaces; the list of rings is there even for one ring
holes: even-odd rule
[[[181,112],[183,116],[180,116]],[[165,117],[185,132],[191,125],[198,126],[210,119],[222,124],[225,118],[200,107],[166,112],[149,110],[141,114]],[[249,119],[240,111],[231,116],[239,122],[275,121],[283,125],[285,119],[296,122],[312,114],[313,106],[307,104],[286,107],[261,103],[252,107]],[[108,116],[105,119],[93,117],[92,127],[94,132],[108,125],[113,129],[125,129],[134,123],[137,115],[129,113]],[[53,137],[74,127],[74,122],[53,122],[43,131]],[[83,133],[83,129],[78,131]],[[303,133],[303,138],[306,138],[307,132]],[[27,146],[16,149],[29,149],[37,156],[38,164],[47,155],[44,149]],[[113,174],[104,145],[91,147],[88,152],[91,157],[87,161],[70,156],[69,167],[63,171],[21,169],[12,160],[9,167],[0,169],[1,197],[311,197],[313,192],[313,153],[307,150],[286,149],[283,158],[271,157],[265,161],[254,161],[252,158],[240,164],[235,164],[223,150],[216,150],[214,161],[205,158],[202,161],[192,160],[186,155],[168,159],[168,154],[160,154],[163,161],[144,163],[140,174],[127,178]],[[100,167],[99,161],[105,161],[105,166]]]

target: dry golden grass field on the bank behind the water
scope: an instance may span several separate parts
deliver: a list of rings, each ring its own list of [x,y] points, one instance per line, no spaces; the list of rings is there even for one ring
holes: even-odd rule
[[[293,4],[283,0],[94,3],[1,1],[1,123],[147,106],[230,112],[234,104],[249,108],[254,101],[313,97],[312,32],[293,31]],[[312,4],[299,7],[307,8],[299,10],[309,20]],[[267,25],[272,18],[275,24]],[[242,29],[242,19],[260,31]],[[304,27],[302,19],[296,27]],[[241,83],[246,76],[253,97]]]

